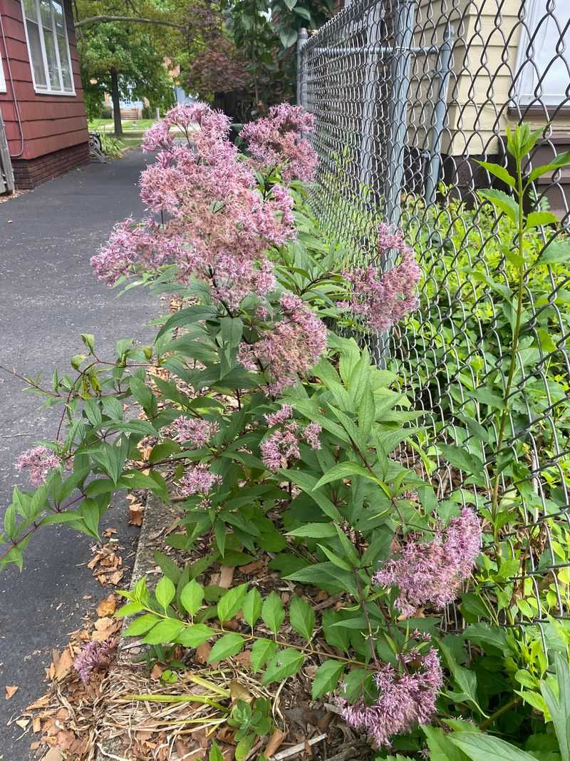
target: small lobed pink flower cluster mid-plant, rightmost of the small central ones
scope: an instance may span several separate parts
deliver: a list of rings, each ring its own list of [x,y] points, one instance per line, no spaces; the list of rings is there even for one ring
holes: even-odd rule
[[[280,468],[287,468],[290,460],[301,457],[299,444],[302,440],[306,441],[312,449],[321,448],[321,442],[318,439],[321,426],[318,423],[309,423],[306,428],[301,429],[292,417],[293,409],[289,404],[283,404],[278,412],[271,412],[264,416],[271,427],[283,425],[283,428],[274,431],[259,447],[261,461],[273,473],[277,473]]]

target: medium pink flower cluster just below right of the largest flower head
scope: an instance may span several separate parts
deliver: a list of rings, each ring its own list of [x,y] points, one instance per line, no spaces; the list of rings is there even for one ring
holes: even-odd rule
[[[327,347],[325,323],[302,299],[283,293],[280,307],[283,318],[266,330],[258,342],[242,343],[238,353],[246,369],[263,369],[268,374],[268,393],[272,396],[294,386],[299,375],[308,373]]]

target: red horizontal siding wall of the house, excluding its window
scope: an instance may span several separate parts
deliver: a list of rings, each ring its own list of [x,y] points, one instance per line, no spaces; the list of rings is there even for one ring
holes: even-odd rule
[[[5,36],[4,44],[0,34],[0,56],[2,56],[7,89],[5,93],[0,92],[0,109],[5,121],[8,146],[13,157],[14,174],[17,176],[21,174],[22,167],[20,164],[23,161],[33,161],[36,167],[41,165],[49,167],[49,171],[46,168],[43,174],[49,174],[50,177],[55,176],[54,172],[61,174],[57,170],[57,162],[38,161],[46,155],[57,153],[59,158],[63,159],[65,158],[65,151],[70,151],[71,155],[75,157],[75,165],[88,161],[87,116],[79,75],[71,0],[65,0],[64,5],[75,94],[40,94],[33,89],[21,2],[19,0],[0,0],[0,17],[2,18]],[[10,61],[11,78],[8,73],[7,56]],[[21,127],[17,120],[14,97],[19,105]],[[24,150],[22,152],[21,131],[24,139]],[[62,164],[65,164],[65,169],[68,168],[67,161],[63,161]],[[36,178],[39,177],[37,171],[35,176]],[[47,177],[43,179],[47,179]]]

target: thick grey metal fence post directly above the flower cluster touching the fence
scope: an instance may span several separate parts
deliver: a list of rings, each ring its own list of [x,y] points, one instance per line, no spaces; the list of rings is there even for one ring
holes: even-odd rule
[[[407,107],[410,91],[410,47],[416,18],[415,0],[401,0],[397,7],[390,79],[389,132],[385,182],[386,221],[397,228],[401,217],[404,186],[404,152],[407,138]]]

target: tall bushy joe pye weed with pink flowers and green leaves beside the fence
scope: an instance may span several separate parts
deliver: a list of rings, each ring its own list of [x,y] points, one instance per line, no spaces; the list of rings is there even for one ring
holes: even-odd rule
[[[399,252],[382,275],[350,270],[350,252],[318,229],[302,185],[316,166],[311,129],[310,115],[283,104],[245,126],[240,153],[228,119],[198,103],[149,130],[149,216],[119,224],[92,262],[109,285],[173,292],[182,308],[153,345],[121,340],[111,361],[84,334],[74,375],[54,373],[47,388],[30,379],[62,406],[61,423],[17,463],[36,489],[14,490],[2,562],[21,565],[49,524],[98,539],[119,490],[176,497],[166,545],[182,564],[159,553],[154,591],[142,579],[118,612],[135,616],[127,635],[170,661],[169,679],[210,642],[210,664],[249,651],[264,686],[311,667],[311,699],[329,696],[382,758],[540,759],[547,748],[549,761],[570,761],[568,629],[543,624],[545,651],[537,627],[511,626],[527,590],[511,581],[524,559],[502,538],[517,516],[502,515],[500,479],[490,508],[483,483],[477,504],[462,489],[438,501],[397,458],[421,432],[414,400],[337,333],[405,319],[420,269],[401,231],[376,231],[380,259]],[[509,143],[521,156],[524,134]],[[295,594],[255,579],[227,591],[204,582],[215,565],[257,557]],[[318,592],[336,603],[316,606]],[[85,679],[95,657],[78,659]],[[232,711],[220,701],[239,761],[271,730],[259,700]]]

